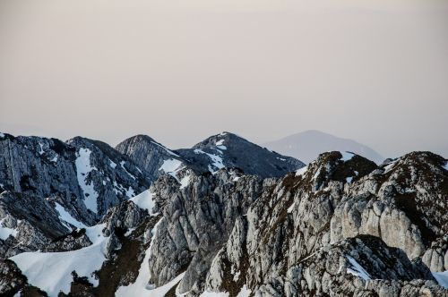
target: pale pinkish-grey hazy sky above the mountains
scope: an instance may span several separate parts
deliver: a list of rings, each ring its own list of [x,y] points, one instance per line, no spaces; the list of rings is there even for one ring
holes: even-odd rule
[[[448,157],[448,1],[0,0],[0,131],[308,129]]]

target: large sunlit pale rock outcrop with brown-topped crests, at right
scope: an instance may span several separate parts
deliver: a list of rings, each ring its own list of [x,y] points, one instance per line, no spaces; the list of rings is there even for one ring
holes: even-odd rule
[[[426,256],[426,263],[421,261],[431,246],[444,246],[440,241],[448,224],[446,213],[441,211],[448,200],[445,164],[444,158],[430,153],[411,153],[385,168],[347,153],[321,155],[306,170],[287,175],[272,187],[269,195],[254,202],[247,212],[247,222],[236,225],[227,246],[213,260],[207,289],[236,295],[246,284],[255,295],[446,294],[434,283],[426,267],[431,262],[440,263],[444,250],[440,248],[435,253],[438,260]],[[397,203],[406,192],[413,193],[411,205],[420,201],[417,209],[402,208],[403,204]],[[246,231],[241,232],[244,225]],[[432,237],[427,236],[427,230],[432,231]],[[243,238],[238,236],[244,233]],[[351,238],[363,242],[362,249],[349,242]],[[332,250],[341,246],[345,248],[338,254],[339,260],[329,259]],[[244,261],[240,250],[245,249],[248,264],[241,265]],[[380,250],[381,255],[376,257]],[[360,283],[353,277],[341,281],[340,270],[344,267],[338,265],[343,264],[343,254],[364,254],[362,259],[371,262],[361,267],[372,279],[383,279],[385,283]],[[393,267],[392,259],[400,269]],[[409,260],[416,264],[409,266]],[[306,263],[311,267],[304,268]],[[424,276],[418,275],[421,271]],[[412,275],[404,277],[406,273]],[[288,284],[285,277],[292,281]],[[387,291],[390,287],[395,293]]]

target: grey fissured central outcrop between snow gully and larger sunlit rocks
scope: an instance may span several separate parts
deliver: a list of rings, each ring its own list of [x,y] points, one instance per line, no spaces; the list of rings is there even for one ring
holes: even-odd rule
[[[236,218],[245,215],[261,193],[263,180],[226,170],[215,175],[192,173],[187,185],[170,186],[166,191],[162,184],[177,182],[165,179],[170,181],[162,178],[151,188],[165,217],[151,251],[151,283],[164,284],[186,270],[178,285],[186,292],[205,279]]]

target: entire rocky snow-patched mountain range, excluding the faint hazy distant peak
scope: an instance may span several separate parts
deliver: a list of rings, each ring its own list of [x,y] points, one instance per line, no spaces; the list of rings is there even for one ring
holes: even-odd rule
[[[448,160],[355,150],[0,133],[0,295],[448,296]]]

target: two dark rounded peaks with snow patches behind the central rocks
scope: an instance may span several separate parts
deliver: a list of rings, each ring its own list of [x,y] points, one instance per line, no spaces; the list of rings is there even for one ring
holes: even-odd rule
[[[155,181],[160,174],[176,174],[190,168],[198,174],[215,173],[223,167],[239,168],[245,174],[280,177],[304,166],[249,142],[235,134],[223,132],[196,144],[193,148],[169,150],[148,136],[137,135],[116,146],[133,159]]]

